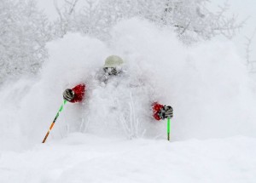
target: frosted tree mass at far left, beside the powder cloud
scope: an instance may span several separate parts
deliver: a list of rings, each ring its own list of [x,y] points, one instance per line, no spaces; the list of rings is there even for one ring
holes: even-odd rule
[[[48,28],[33,1],[0,1],[0,83],[38,71],[47,57]]]

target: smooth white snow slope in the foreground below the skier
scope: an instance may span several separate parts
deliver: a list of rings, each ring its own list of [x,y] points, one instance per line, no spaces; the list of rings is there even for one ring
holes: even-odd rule
[[[253,183],[256,140],[119,140],[70,134],[26,152],[2,152],[0,182]]]

